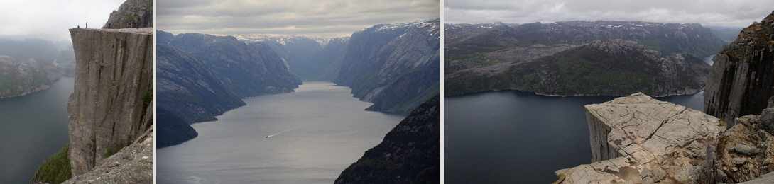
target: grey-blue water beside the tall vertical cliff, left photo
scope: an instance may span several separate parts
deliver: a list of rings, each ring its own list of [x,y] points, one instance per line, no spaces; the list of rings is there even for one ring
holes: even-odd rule
[[[74,78],[0,99],[0,183],[29,183],[43,160],[67,143],[67,98]]]

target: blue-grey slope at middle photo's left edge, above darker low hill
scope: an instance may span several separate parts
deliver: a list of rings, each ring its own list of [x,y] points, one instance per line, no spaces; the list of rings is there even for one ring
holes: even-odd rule
[[[193,56],[170,45],[156,45],[156,57],[159,109],[180,115],[187,122],[202,122],[245,105],[207,65]],[[159,134],[165,131],[161,128]]]

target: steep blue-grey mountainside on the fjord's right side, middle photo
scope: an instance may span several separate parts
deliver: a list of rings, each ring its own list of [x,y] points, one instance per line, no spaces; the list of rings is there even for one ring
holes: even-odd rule
[[[354,32],[333,81],[368,110],[406,114],[440,91],[440,20],[375,25]]]

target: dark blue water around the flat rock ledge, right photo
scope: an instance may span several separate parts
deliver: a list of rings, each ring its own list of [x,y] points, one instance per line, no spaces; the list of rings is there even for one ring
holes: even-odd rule
[[[444,97],[445,183],[550,183],[591,162],[583,105],[616,96],[503,90]],[[702,110],[702,92],[656,98]]]

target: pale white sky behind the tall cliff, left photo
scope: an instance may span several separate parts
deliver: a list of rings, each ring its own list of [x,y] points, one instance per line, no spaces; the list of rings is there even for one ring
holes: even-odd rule
[[[0,0],[0,38],[70,40],[70,31],[102,28],[125,0]]]

